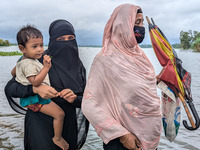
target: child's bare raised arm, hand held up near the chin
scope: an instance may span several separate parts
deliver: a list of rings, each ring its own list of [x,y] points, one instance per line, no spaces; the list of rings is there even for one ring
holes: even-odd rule
[[[51,68],[51,58],[49,56],[44,55],[43,65],[44,67],[38,75],[27,78],[33,86],[39,86],[49,72],[49,69]]]

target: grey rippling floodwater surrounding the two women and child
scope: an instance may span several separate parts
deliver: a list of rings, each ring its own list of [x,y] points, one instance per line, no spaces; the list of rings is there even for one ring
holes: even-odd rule
[[[0,51],[16,51],[17,47],[0,47]],[[101,48],[80,47],[80,58],[87,69],[87,75],[93,58]],[[143,49],[147,57],[152,62],[156,73],[161,70],[161,66],[155,57],[153,49]],[[191,50],[176,50],[179,58],[183,61],[183,67],[192,74],[192,95],[194,105],[198,114],[200,114],[200,53]],[[23,128],[24,116],[14,112],[5,97],[4,87],[11,79],[11,70],[15,66],[20,56],[0,56],[0,150],[23,150]],[[158,90],[160,95],[160,91]],[[187,120],[185,111],[182,107],[182,120]],[[162,132],[159,150],[200,150],[200,128],[195,131],[189,131],[181,127],[176,139],[169,142]],[[97,136],[94,128],[91,126],[85,145],[82,150],[103,150],[102,141]]]

